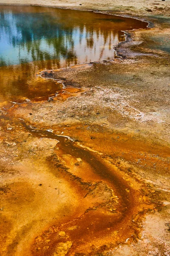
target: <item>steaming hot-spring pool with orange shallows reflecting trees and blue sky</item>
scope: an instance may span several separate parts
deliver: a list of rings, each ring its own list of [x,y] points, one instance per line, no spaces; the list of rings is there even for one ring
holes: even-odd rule
[[[124,30],[140,20],[38,6],[0,6],[0,102],[45,99],[60,89],[36,77],[39,70],[115,57]]]

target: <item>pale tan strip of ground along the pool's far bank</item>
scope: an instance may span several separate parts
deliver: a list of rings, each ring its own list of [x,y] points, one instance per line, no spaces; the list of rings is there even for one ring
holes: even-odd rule
[[[147,12],[147,9],[151,9],[153,14],[167,14],[170,12],[170,0],[166,1],[156,1],[156,0],[99,0],[97,2],[91,0],[1,0],[2,4],[27,4],[27,5],[38,5],[38,6],[53,6],[53,7],[63,7],[63,8],[76,8],[76,9],[86,9],[86,10],[100,10],[100,11],[108,11],[111,12],[114,10],[119,14],[125,15],[144,15]],[[80,6],[82,4],[82,6]],[[155,8],[156,6],[156,8]]]

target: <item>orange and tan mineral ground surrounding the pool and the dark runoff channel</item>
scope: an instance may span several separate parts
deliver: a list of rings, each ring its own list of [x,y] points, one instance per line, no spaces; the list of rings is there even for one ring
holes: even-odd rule
[[[91,233],[89,238],[94,246],[88,246],[87,239],[83,251],[80,241],[77,252],[81,254],[77,255],[169,256],[170,56],[161,48],[152,49],[157,42],[150,38],[170,35],[166,23],[170,1],[80,1],[82,6],[75,1],[27,1],[27,4],[109,10],[150,20],[155,28],[133,32],[132,41],[117,49],[126,57],[124,60],[61,74],[79,83],[81,92],[62,90],[52,102],[28,102],[15,105],[7,114],[3,112],[10,118],[1,119],[0,253],[74,255],[71,230],[79,227],[75,220],[68,224],[71,216],[79,218],[89,207],[99,207],[100,212],[101,202],[105,204],[102,210],[106,216],[121,212],[121,203],[118,204],[115,195],[120,199],[121,196],[113,184],[107,181],[107,186],[95,185],[96,192],[89,190],[86,183],[82,185],[82,180],[99,181],[99,175],[88,162],[72,157],[66,147],[60,148],[57,140],[34,136],[20,123],[18,118],[21,118],[37,129],[53,129],[55,134],[77,140],[77,145],[90,152],[96,151],[96,157],[125,180],[126,192],[132,188],[136,193],[134,212],[127,215],[130,225],[122,222],[118,232],[108,230],[100,239]],[[23,4],[22,1],[1,3]],[[164,15],[163,22],[157,18],[158,14]],[[122,234],[124,227],[128,228]],[[109,247],[107,241],[115,237],[116,244]],[[55,251],[48,253],[52,241]],[[99,245],[104,244],[106,247],[101,249]]]

